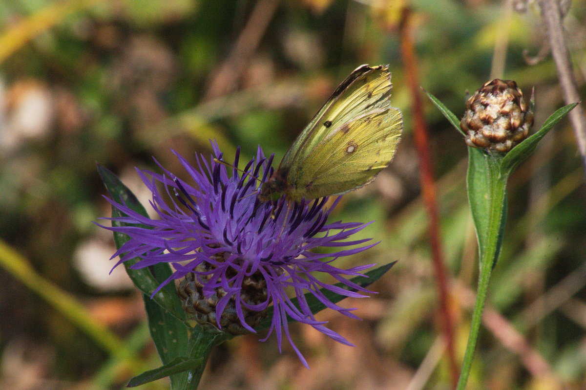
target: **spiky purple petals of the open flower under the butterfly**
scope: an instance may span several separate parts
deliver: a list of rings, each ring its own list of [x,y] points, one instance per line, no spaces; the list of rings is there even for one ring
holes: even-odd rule
[[[217,144],[212,143],[212,147],[214,157],[221,160],[222,153]],[[364,297],[363,295],[324,283],[312,273],[328,273],[338,282],[357,291],[370,292],[349,282],[346,276],[360,275],[360,272],[373,264],[347,270],[331,265],[338,257],[354,255],[376,245],[374,243],[343,249],[369,241],[347,240],[369,224],[327,223],[327,198],[301,201],[299,204],[288,204],[284,197],[275,203],[261,202],[257,195],[274,168],[271,167],[273,156],[265,158],[260,147],[256,157],[243,169],[246,174],[227,168],[214,158],[208,164],[203,156],[197,158],[195,168],[185,158],[175,154],[192,181],[185,182],[177,178],[160,164],[163,174],[137,170],[152,192],[151,205],[161,219],[142,216],[123,202],[108,199],[127,215],[111,218],[113,221],[135,225],[102,226],[130,237],[112,256],[121,256],[115,266],[135,257],[140,257],[141,260],[132,266],[134,269],[163,262],[172,263],[175,272],[159,289],[171,280],[180,279],[191,272],[203,283],[203,294],[206,298],[212,296],[214,291],[223,289],[225,295],[217,294],[220,297],[215,308],[217,327],[220,327],[220,315],[230,299],[235,304],[240,324],[251,332],[254,329],[244,320],[243,311],[262,311],[272,303],[274,314],[267,338],[275,331],[281,348],[284,331],[306,366],[307,362],[291,340],[287,316],[311,325],[333,340],[352,345],[338,333],[326,328],[326,321],[315,319],[304,293],[309,291],[325,306],[345,316],[358,318],[350,313],[355,308],[340,307],[319,290],[326,289],[348,297]],[[239,151],[234,160],[235,167],[238,162]],[[158,183],[162,184],[161,189],[158,188]],[[338,201],[339,198],[332,208]],[[333,253],[312,252],[312,249],[320,246],[336,247],[338,250]],[[211,267],[201,267],[200,264]],[[200,266],[198,270],[197,266]],[[204,271],[199,271],[202,269]],[[255,273],[260,274],[266,283],[267,299],[260,304],[252,304],[241,296],[243,279]],[[294,291],[298,299],[297,306],[292,303],[287,291]]]

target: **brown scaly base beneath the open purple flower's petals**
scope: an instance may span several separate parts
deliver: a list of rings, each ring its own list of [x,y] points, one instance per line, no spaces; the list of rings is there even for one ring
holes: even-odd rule
[[[222,257],[222,255],[217,255],[216,257]],[[226,291],[218,286],[214,289],[214,293],[207,298],[203,291],[204,285],[209,285],[212,282],[214,269],[215,267],[212,264],[200,263],[195,269],[197,274],[190,272],[181,280],[177,291],[182,300],[183,310],[187,311],[192,316],[192,319],[200,325],[212,325],[217,328],[219,322],[222,330],[227,333],[233,335],[250,333],[239,320],[234,296],[230,297],[226,308],[222,311],[220,321],[217,321],[216,306],[226,296]],[[235,275],[236,272],[231,277]],[[246,323],[250,327],[254,328],[260,324],[261,320],[267,317],[267,308],[261,311],[253,311],[246,307],[246,304],[260,305],[267,301],[267,282],[260,272],[244,277],[241,283],[240,299],[244,303],[241,305],[241,310]]]

